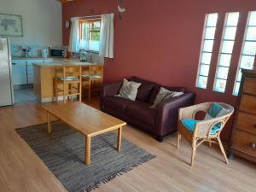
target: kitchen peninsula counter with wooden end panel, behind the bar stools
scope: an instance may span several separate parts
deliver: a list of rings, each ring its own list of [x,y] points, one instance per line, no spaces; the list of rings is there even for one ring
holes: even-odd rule
[[[39,102],[54,101],[55,68],[63,66],[89,67],[96,63],[81,62],[68,59],[57,59],[48,63],[33,63],[34,93]],[[59,98],[63,99],[63,98]]]

